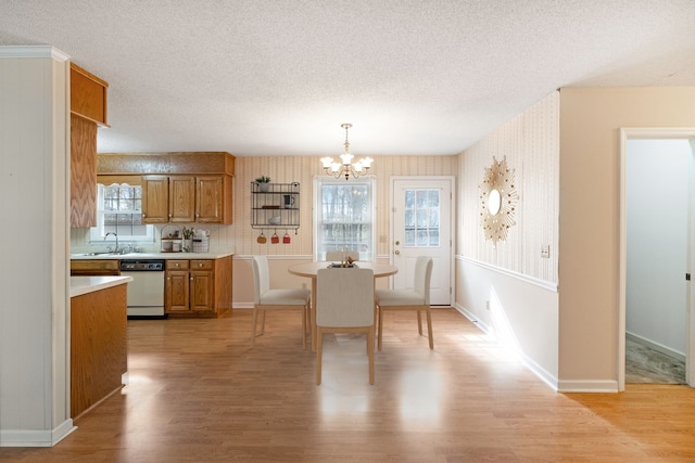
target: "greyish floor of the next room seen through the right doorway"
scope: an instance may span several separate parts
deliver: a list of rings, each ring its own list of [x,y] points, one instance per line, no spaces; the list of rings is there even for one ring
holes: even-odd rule
[[[685,362],[626,339],[626,383],[685,384]]]

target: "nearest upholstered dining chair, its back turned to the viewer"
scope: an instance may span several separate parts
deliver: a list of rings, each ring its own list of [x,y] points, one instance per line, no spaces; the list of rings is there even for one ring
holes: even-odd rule
[[[316,384],[321,384],[324,333],[365,333],[374,384],[375,306],[371,269],[320,269],[316,275]]]

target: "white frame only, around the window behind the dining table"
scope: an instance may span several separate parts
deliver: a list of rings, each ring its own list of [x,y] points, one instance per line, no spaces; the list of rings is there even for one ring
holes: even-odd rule
[[[324,243],[321,243],[321,226],[323,226],[323,187],[324,185],[353,185],[353,184],[362,184],[367,187],[367,195],[369,198],[369,224],[371,230],[371,235],[367,243],[367,249],[357,249],[359,250],[359,259],[361,260],[370,260],[374,261],[377,258],[377,207],[376,207],[376,197],[377,197],[377,182],[374,176],[365,176],[358,179],[351,178],[350,180],[345,180],[344,178],[336,179],[333,177],[326,176],[316,176],[314,177],[314,189],[313,189],[313,203],[314,203],[314,260],[325,260],[326,252],[323,250]],[[337,249],[340,250],[340,249]]]

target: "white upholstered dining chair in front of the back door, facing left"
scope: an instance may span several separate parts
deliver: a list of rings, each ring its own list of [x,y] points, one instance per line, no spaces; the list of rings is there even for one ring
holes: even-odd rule
[[[432,278],[432,258],[419,256],[415,261],[415,276],[413,288],[408,290],[377,290],[377,310],[379,311],[379,335],[378,345],[381,350],[381,338],[383,336],[383,311],[384,310],[416,310],[417,329],[422,334],[422,319],[420,310],[427,314],[427,334],[429,336],[430,349],[434,348],[432,337],[432,314],[430,312],[430,280]]]

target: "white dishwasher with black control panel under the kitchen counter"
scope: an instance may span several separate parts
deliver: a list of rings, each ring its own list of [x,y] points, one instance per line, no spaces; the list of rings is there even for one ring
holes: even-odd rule
[[[164,259],[121,260],[128,283],[128,318],[166,318],[164,313]]]

